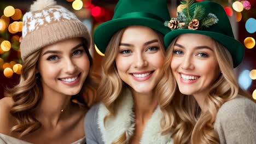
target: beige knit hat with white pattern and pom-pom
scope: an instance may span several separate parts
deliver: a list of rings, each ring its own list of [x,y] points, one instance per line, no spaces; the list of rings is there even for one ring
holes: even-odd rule
[[[54,0],[37,0],[23,17],[21,58],[57,41],[91,37],[85,25],[71,11],[56,5]]]

